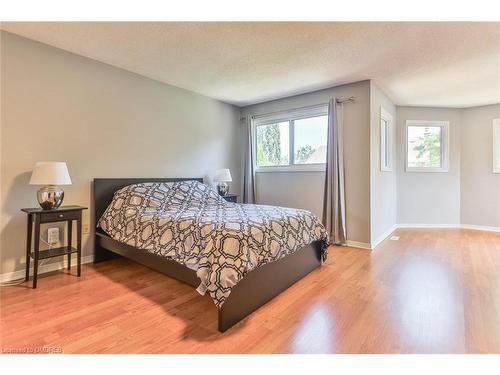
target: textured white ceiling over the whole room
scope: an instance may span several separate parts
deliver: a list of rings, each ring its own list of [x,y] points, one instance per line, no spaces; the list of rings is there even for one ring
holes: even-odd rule
[[[372,79],[398,105],[500,102],[500,23],[2,23],[2,29],[247,105]]]

